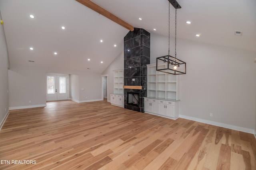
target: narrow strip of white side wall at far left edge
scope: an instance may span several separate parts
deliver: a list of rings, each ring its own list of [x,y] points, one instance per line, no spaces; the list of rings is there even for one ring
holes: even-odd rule
[[[1,14],[0,19],[2,20]],[[4,25],[0,25],[0,129],[8,114],[8,51],[4,35]]]

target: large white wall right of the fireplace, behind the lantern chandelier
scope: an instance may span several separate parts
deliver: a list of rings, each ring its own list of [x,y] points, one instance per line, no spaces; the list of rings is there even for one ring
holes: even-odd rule
[[[172,56],[173,49],[172,43]],[[168,37],[151,34],[150,52],[151,63],[168,55]],[[179,76],[181,116],[253,133],[255,57],[255,52],[178,39],[177,58],[187,63],[187,74]]]

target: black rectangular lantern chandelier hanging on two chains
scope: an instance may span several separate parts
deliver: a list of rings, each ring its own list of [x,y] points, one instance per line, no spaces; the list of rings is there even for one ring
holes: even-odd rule
[[[156,58],[156,70],[170,74],[186,74],[186,63],[176,58],[177,9],[181,8],[176,0],[169,1],[169,43],[168,55]],[[175,57],[170,56],[170,4],[175,8]]]

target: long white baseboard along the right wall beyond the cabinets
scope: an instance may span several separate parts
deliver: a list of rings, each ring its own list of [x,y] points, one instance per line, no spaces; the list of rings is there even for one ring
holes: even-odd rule
[[[253,129],[249,129],[249,128],[246,128],[246,127],[228,125],[228,124],[225,124],[225,123],[219,123],[219,122],[216,122],[216,121],[209,121],[209,120],[206,120],[206,119],[199,119],[199,118],[196,118],[196,117],[190,117],[190,116],[186,116],[186,115],[180,115],[180,118],[193,120],[193,121],[198,121],[198,122],[207,123],[207,124],[210,124],[210,125],[215,125],[215,126],[219,126],[219,127],[233,129],[233,130],[236,130],[236,131],[242,131],[242,132],[254,134]]]

